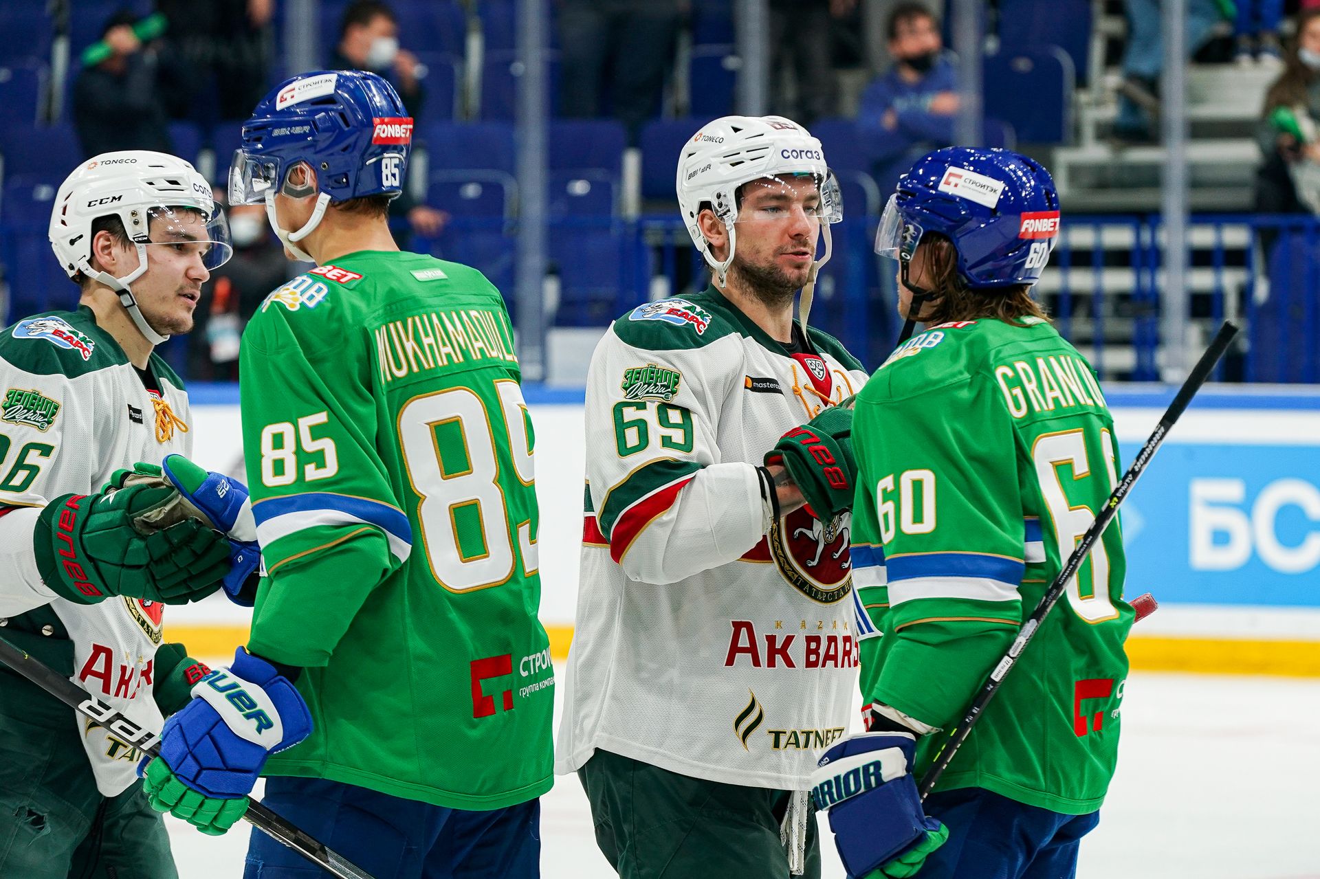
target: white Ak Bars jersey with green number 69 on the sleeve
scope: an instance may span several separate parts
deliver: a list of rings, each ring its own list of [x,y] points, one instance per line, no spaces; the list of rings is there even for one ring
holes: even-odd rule
[[[849,517],[768,523],[755,471],[783,433],[866,381],[836,339],[810,339],[817,354],[795,354],[708,288],[634,309],[597,347],[557,772],[603,748],[805,791],[847,730]]]

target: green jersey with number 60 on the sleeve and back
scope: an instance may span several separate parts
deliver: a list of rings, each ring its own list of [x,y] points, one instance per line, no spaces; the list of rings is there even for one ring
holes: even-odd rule
[[[853,445],[862,696],[944,730],[921,739],[920,775],[1113,490],[1118,443],[1090,366],[1030,318],[913,337],[858,395]],[[1127,676],[1123,571],[1115,521],[936,789],[1100,808]]]

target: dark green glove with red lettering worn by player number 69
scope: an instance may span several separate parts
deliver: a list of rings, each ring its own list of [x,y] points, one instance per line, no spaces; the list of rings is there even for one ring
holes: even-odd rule
[[[813,516],[829,521],[853,508],[857,459],[853,458],[853,410],[830,407],[785,433],[766,453],[766,465],[783,465]]]

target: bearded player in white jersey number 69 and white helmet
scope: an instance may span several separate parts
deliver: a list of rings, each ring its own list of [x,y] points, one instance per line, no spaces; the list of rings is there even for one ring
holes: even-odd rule
[[[620,876],[818,876],[805,791],[858,664],[833,407],[866,374],[793,302],[838,189],[796,123],[726,116],[684,146],[677,190],[713,280],[624,314],[591,359],[556,771],[578,772]]]

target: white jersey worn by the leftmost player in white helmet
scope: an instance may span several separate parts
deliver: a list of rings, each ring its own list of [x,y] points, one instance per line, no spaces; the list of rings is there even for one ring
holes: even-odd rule
[[[162,606],[123,597],[99,604],[58,598],[41,582],[32,549],[37,511],[49,500],[99,491],[115,470],[139,461],[189,454],[183,383],[154,354],[150,370],[158,395],[147,391],[87,308],[42,314],[3,331],[0,509],[7,512],[0,516],[0,636],[22,627],[24,615],[49,618],[49,606],[58,622],[34,628],[73,641],[73,680],[136,723],[160,730],[152,684]],[[127,789],[141,754],[73,709],[69,722],[78,725],[100,793]]]

